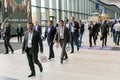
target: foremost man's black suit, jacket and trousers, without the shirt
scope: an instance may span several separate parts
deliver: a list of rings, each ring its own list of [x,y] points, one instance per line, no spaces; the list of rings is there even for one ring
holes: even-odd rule
[[[35,74],[35,67],[33,63],[37,64],[40,70],[42,70],[42,65],[38,60],[38,52],[39,52],[39,45],[40,45],[40,51],[43,51],[43,44],[42,44],[40,34],[34,30],[33,36],[32,36],[32,47],[29,48],[28,33],[29,33],[28,31],[25,32],[22,51],[25,51],[27,53],[27,59],[28,59],[30,69],[32,71],[32,74]]]

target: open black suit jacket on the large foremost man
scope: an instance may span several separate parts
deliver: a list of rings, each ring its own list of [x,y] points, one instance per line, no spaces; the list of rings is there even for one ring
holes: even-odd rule
[[[32,37],[32,50],[33,50],[33,53],[38,53],[39,52],[38,43],[40,45],[40,51],[43,51],[43,44],[42,44],[40,34],[39,34],[39,32],[33,30],[33,37]],[[27,52],[27,47],[28,47],[28,31],[26,31],[25,35],[24,35],[22,51]]]

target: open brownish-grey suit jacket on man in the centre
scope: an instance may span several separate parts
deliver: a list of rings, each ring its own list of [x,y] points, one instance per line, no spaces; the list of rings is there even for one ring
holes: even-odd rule
[[[60,27],[57,28],[55,40],[60,42]],[[64,42],[70,42],[69,29],[67,27],[64,27]]]

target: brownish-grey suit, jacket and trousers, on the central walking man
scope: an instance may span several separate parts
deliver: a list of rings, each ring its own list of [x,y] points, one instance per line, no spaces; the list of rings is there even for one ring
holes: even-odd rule
[[[57,28],[57,33],[55,36],[55,40],[58,41],[62,47],[61,52],[61,63],[63,63],[63,60],[65,58],[68,58],[67,52],[66,52],[66,44],[70,42],[70,36],[69,36],[69,29],[67,27],[64,27],[64,38],[60,38],[60,27]]]

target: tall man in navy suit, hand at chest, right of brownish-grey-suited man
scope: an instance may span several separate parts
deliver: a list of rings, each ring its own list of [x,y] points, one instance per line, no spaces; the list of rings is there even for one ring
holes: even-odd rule
[[[78,37],[79,37],[79,25],[78,22],[75,21],[74,17],[71,17],[71,22],[69,23],[69,31],[70,31],[70,39],[71,39],[71,53],[74,53],[74,42],[77,46],[77,51],[79,51],[78,46]]]

